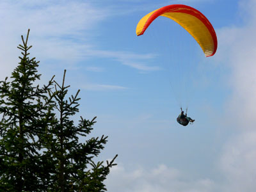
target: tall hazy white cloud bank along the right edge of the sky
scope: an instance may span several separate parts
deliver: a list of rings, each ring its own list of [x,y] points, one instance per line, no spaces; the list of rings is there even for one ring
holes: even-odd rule
[[[230,69],[227,81],[232,95],[226,104],[225,126],[236,133],[227,140],[220,159],[220,168],[228,182],[223,191],[256,189],[256,1],[241,1],[241,15],[246,25],[219,31],[218,57]]]

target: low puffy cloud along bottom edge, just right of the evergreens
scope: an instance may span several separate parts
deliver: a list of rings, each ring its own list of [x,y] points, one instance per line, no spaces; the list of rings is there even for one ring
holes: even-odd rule
[[[214,191],[214,182],[210,179],[189,180],[186,173],[164,164],[145,170],[136,168],[130,172],[122,163],[111,168],[106,180],[108,191],[124,192],[209,192]]]

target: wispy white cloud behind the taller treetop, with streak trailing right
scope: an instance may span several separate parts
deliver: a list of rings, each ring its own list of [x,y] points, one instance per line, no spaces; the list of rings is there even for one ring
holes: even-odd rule
[[[113,6],[97,6],[90,1],[1,1],[0,24],[4,28],[1,29],[0,43],[4,46],[0,47],[0,60],[4,63],[1,64],[0,76],[9,76],[17,66],[20,51],[16,47],[20,44],[20,33],[26,36],[29,28],[29,44],[35,46],[31,49],[31,56],[51,61],[56,67],[61,63],[61,66],[76,68],[77,61],[97,56],[141,71],[158,70],[158,67],[145,64],[153,57],[150,54],[102,51],[95,47],[92,39],[101,33],[95,28],[117,14],[114,9],[118,10]]]

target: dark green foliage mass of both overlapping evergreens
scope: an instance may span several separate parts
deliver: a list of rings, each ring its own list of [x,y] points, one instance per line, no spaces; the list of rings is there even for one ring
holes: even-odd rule
[[[52,77],[42,88],[34,86],[39,62],[29,58],[28,35],[18,47],[22,57],[12,81],[0,81],[0,191],[106,191],[103,182],[117,155],[95,164],[108,137],[79,143],[96,117],[81,117],[77,126],[70,119],[79,112],[79,91],[65,99],[66,71],[61,85]]]

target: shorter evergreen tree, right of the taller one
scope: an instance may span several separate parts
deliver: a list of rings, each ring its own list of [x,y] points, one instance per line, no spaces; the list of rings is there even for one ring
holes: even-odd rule
[[[113,163],[117,155],[106,166],[103,161],[94,163],[93,157],[98,156],[100,150],[104,148],[108,136],[101,138],[90,138],[84,143],[79,143],[79,136],[84,139],[92,131],[95,124],[95,118],[86,120],[83,117],[79,120],[77,126],[74,125],[70,118],[79,112],[76,95],[67,97],[68,87],[65,86],[65,74],[62,84],[56,83],[55,92],[52,94],[56,99],[56,110],[59,118],[56,124],[47,131],[44,152],[47,156],[52,157],[52,164],[56,168],[52,174],[52,185],[50,191],[106,191],[104,180],[109,173],[109,168],[114,166]],[[90,166],[90,167],[88,167]]]

